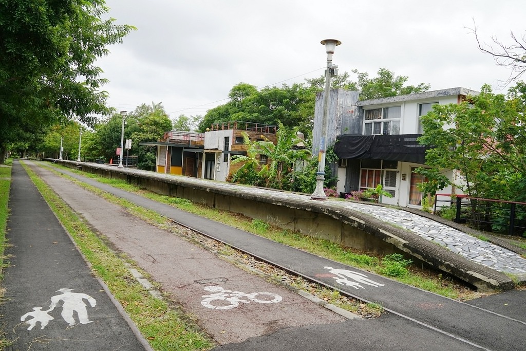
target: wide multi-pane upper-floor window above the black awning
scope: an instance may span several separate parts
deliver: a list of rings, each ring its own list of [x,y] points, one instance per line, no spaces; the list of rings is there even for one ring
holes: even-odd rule
[[[401,106],[373,108],[365,110],[364,135],[400,134]]]

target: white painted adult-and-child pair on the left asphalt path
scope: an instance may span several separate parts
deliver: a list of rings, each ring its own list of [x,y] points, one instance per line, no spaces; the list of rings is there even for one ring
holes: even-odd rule
[[[93,320],[89,320],[88,318],[86,303],[84,303],[84,300],[87,300],[90,306],[95,307],[97,301],[93,297],[82,293],[72,293],[72,289],[67,288],[58,289],[56,292],[61,294],[55,295],[51,298],[49,309],[42,310],[42,307],[33,307],[33,312],[28,312],[20,317],[22,322],[26,322],[28,317],[33,317],[26,322],[29,324],[27,330],[33,329],[37,322],[40,322],[41,329],[44,329],[50,320],[55,319],[53,316],[50,316],[49,313],[52,312],[55,307],[59,306],[61,302],[62,312],[60,313],[60,316],[64,318],[69,326],[77,324],[74,317],[75,312],[77,313],[78,323],[88,324],[93,322]]]

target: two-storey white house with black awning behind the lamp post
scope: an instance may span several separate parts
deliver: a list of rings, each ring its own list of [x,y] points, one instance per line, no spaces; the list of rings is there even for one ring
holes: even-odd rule
[[[476,94],[478,92],[457,87],[358,101],[357,92],[331,91],[327,144],[335,145],[339,158],[338,192],[350,193],[381,184],[392,195],[382,197],[381,203],[421,207],[418,184],[424,179],[414,172],[426,166],[426,148],[417,141],[422,133],[420,117],[434,104],[458,104],[466,96]],[[315,126],[321,123],[321,95],[317,96]],[[452,126],[444,126],[448,127]],[[315,132],[317,129],[315,127]],[[315,134],[314,140],[317,139]],[[313,154],[318,152],[317,147],[313,145]],[[443,172],[453,182],[458,180],[454,170]],[[449,187],[441,193],[453,191]]]

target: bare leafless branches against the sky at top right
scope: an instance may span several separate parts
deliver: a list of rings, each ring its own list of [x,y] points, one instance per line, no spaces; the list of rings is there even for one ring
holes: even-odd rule
[[[511,44],[501,43],[497,37],[492,36],[491,41],[496,46],[494,48],[480,42],[477,26],[473,26],[471,31],[475,35],[477,46],[482,53],[493,56],[497,66],[510,69],[510,76],[504,82],[505,85],[517,81],[526,72],[526,35],[519,39],[513,32],[510,32]]]

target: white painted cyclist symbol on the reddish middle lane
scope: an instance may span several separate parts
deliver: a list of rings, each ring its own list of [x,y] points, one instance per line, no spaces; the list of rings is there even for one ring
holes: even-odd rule
[[[246,294],[234,290],[227,290],[215,285],[206,286],[205,290],[214,293],[201,296],[205,298],[201,301],[201,305],[210,309],[231,309],[239,306],[240,303],[248,304],[250,302],[276,304],[282,299],[282,297],[277,294],[264,292]]]

